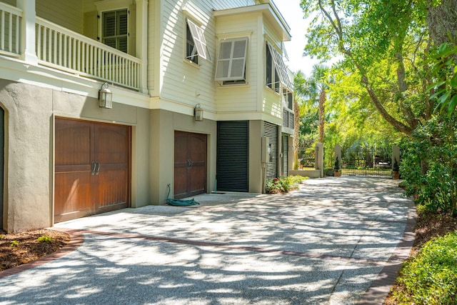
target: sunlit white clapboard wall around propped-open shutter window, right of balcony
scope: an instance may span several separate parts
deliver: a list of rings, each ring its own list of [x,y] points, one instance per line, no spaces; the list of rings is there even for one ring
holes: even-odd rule
[[[163,1],[161,5],[161,89],[160,96],[179,104],[215,110],[214,105],[214,18],[208,1]],[[186,18],[191,18],[204,29],[211,60],[199,58],[199,66],[184,59],[186,48]],[[157,48],[155,48],[157,51]],[[157,75],[157,74],[156,74]],[[155,81],[157,84],[157,80]]]

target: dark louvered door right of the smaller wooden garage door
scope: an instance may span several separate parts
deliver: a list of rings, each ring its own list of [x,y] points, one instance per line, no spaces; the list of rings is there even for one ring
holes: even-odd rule
[[[217,191],[248,191],[249,121],[217,122]]]

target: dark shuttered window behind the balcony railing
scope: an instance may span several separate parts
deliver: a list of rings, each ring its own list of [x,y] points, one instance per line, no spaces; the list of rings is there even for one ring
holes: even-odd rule
[[[127,9],[106,11],[103,13],[102,42],[127,53]]]

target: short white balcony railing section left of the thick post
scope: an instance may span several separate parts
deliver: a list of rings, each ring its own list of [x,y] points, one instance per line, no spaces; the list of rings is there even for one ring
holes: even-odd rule
[[[0,54],[19,57],[22,11],[14,6],[0,6]]]

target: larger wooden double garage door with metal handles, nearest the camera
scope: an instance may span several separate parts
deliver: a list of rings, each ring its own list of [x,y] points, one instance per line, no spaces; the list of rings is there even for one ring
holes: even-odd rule
[[[130,127],[56,119],[54,221],[130,204]]]

